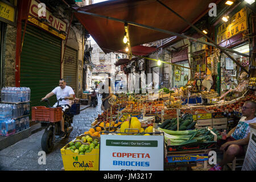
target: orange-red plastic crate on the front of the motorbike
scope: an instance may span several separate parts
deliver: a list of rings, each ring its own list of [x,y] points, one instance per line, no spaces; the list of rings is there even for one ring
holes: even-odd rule
[[[49,108],[46,106],[32,107],[32,121],[58,122],[61,120],[62,107]]]

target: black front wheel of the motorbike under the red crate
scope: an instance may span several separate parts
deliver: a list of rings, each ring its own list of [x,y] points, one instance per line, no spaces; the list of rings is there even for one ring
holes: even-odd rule
[[[42,140],[41,140],[41,147],[42,147],[43,151],[46,152],[46,154],[51,152],[52,148],[54,146],[54,144],[52,142],[52,137],[53,137],[52,130],[47,130],[43,134],[43,137],[42,137]]]

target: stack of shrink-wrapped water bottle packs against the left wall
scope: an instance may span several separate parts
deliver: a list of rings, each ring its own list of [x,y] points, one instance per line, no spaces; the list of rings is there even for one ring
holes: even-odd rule
[[[0,135],[10,136],[29,128],[30,88],[2,88],[1,98],[10,104],[0,104]]]

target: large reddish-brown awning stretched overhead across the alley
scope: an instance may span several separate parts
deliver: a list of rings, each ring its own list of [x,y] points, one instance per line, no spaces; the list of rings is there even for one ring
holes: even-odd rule
[[[162,0],[161,2],[188,22],[195,23],[208,12],[209,3],[217,3],[219,0]],[[77,10],[178,33],[188,28],[187,23],[155,0],[105,1]],[[125,33],[124,23],[82,13],[74,14],[105,53],[125,49],[125,44],[122,42]],[[129,25],[129,34],[131,47],[171,37],[163,32],[131,25]]]

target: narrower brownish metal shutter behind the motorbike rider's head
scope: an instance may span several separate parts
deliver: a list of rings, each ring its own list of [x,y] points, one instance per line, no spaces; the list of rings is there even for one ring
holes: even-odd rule
[[[66,47],[64,55],[64,79],[77,92],[77,51]]]

